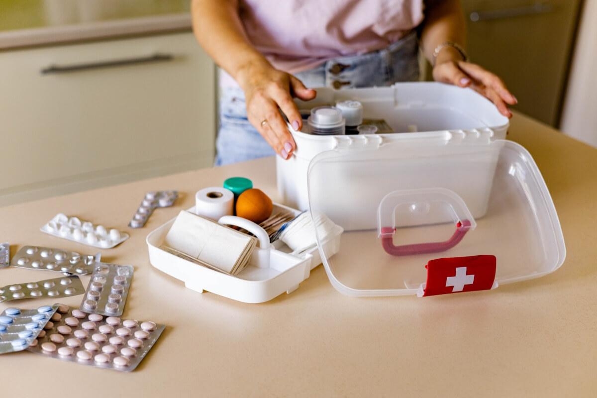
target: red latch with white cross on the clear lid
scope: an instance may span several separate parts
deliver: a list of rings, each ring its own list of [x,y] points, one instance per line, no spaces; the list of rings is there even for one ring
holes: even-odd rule
[[[425,266],[424,296],[489,290],[496,279],[496,256],[436,258]]]

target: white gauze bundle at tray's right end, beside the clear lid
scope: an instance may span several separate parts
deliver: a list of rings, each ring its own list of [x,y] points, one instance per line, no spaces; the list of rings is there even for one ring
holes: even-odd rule
[[[313,224],[313,219],[315,224]],[[288,227],[280,234],[279,239],[293,249],[295,253],[315,247],[317,245],[315,228],[317,228],[319,240],[324,241],[333,232],[336,224],[322,213],[313,214],[313,219],[309,212],[304,212],[288,224]]]

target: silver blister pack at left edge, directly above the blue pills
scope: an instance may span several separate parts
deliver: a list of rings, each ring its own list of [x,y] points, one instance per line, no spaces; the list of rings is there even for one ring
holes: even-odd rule
[[[16,283],[0,288],[0,303],[21,298],[69,297],[83,294],[85,288],[76,275],[39,280],[38,282]]]

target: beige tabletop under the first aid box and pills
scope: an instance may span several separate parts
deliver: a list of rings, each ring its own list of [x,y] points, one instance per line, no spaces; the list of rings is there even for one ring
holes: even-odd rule
[[[0,208],[0,240],[10,241],[12,254],[23,245],[94,252],[39,232],[57,212],[128,230],[127,242],[102,251],[106,261],[135,266],[125,317],[167,325],[130,374],[28,352],[2,355],[3,380],[10,378],[3,393],[58,393],[63,381],[72,381],[88,397],[596,396],[597,150],[520,115],[509,138],[536,159],[568,256],[552,274],[491,292],[347,297],[320,266],[291,294],[243,304],[186,289],[150,266],[145,236],[192,206],[196,190],[245,175],[276,198],[272,158]],[[144,193],[158,189],[184,195],[176,207],[156,211],[145,228],[126,228]],[[53,276],[2,269],[0,285]],[[60,301],[78,306],[81,296]]]

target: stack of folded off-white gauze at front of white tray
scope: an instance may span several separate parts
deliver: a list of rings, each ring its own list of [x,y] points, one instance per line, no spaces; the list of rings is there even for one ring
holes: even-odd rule
[[[184,210],[164,239],[175,254],[231,275],[244,269],[256,245],[254,236]]]

